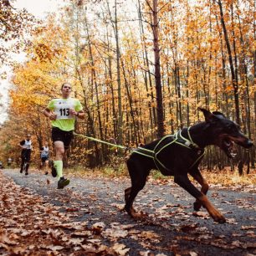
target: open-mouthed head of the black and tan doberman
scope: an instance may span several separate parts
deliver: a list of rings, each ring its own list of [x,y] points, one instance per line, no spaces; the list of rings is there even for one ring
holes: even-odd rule
[[[212,131],[209,136],[212,136],[213,144],[219,146],[228,157],[236,156],[233,142],[245,148],[253,146],[253,142],[244,136],[240,127],[232,120],[228,120],[223,113],[218,111],[211,113],[205,109],[198,109],[202,111],[206,122],[209,124]]]

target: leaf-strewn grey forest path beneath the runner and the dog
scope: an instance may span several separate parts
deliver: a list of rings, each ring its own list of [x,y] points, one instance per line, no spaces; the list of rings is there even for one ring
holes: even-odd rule
[[[31,255],[256,255],[255,188],[208,194],[227,223],[202,210],[172,181],[150,179],[135,207],[148,216],[130,218],[124,206],[127,177],[70,177],[63,190],[39,172],[0,171],[0,253]]]

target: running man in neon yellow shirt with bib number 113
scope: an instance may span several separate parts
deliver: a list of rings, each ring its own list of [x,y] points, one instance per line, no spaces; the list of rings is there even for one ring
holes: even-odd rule
[[[54,142],[55,161],[52,163],[52,175],[58,177],[58,188],[69,185],[63,176],[63,157],[73,139],[75,118],[84,119],[84,110],[79,100],[70,98],[71,84],[61,86],[61,99],[54,99],[44,110],[44,115],[52,120],[52,140]]]

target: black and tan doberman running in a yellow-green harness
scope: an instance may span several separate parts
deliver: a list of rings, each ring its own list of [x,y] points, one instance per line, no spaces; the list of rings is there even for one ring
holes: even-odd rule
[[[193,207],[196,211],[205,207],[214,221],[225,223],[223,214],[219,212],[207,199],[208,184],[202,177],[198,165],[204,155],[204,148],[209,145],[219,146],[229,158],[236,154],[233,145],[249,148],[253,146],[240,131],[239,126],[228,120],[221,112],[198,108],[205,121],[183,128],[177,134],[164,136],[145,146],[138,147],[127,160],[127,167],[131,177],[131,187],[125,189],[125,211],[133,218],[140,218],[132,205],[141,189],[146,184],[146,177],[152,169],[158,169],[165,176],[173,176],[174,182],[184,188],[196,198]],[[187,177],[190,174],[201,186],[201,192]]]

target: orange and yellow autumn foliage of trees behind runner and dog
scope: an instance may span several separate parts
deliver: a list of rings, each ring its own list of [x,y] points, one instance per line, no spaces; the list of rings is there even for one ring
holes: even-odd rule
[[[254,2],[128,2],[70,1],[61,17],[51,16],[33,30],[28,60],[14,67],[2,156],[17,156],[13,146],[24,132],[31,132],[38,146],[49,140],[49,120],[42,110],[59,96],[64,81],[73,84],[73,96],[84,105],[86,118],[76,124],[77,133],[127,146],[155,139],[156,25],[165,133],[202,120],[197,112],[201,106],[222,111],[255,139]],[[207,153],[208,168],[230,164],[216,149]],[[69,154],[95,166],[109,161],[115,151],[75,137]],[[254,149],[240,151],[239,159],[254,165],[254,155]]]

